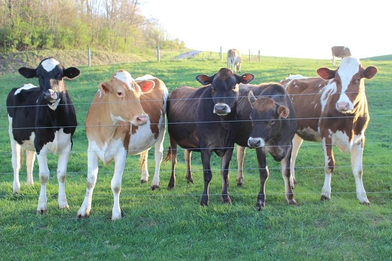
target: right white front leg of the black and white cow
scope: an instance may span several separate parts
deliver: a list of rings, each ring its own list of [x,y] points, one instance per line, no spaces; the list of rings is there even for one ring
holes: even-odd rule
[[[60,153],[57,162],[57,181],[58,181],[58,197],[57,202],[60,209],[69,209],[67,196],[65,194],[65,179],[67,177],[67,164],[71,153],[71,142]]]

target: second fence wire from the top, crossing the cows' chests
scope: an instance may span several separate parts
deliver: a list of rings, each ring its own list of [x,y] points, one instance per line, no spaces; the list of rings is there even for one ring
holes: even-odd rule
[[[385,115],[370,115],[369,117],[391,117],[391,114]],[[297,119],[347,119],[347,118],[364,118],[366,116],[336,116],[336,117],[314,117],[314,118],[281,118],[275,120],[297,120]],[[187,122],[166,122],[166,124],[192,124],[192,123],[218,123],[218,122],[248,122],[248,121],[270,121],[271,119],[237,119],[237,120],[211,120],[211,121],[187,121]],[[149,123],[149,125],[162,125],[165,123]],[[52,128],[80,128],[80,127],[113,127],[113,126],[132,126],[132,124],[111,124],[111,125],[70,125],[70,126],[51,126],[51,127],[20,127],[20,128],[12,128],[13,130],[18,129],[52,129]],[[9,130],[8,128],[0,128],[0,130]]]

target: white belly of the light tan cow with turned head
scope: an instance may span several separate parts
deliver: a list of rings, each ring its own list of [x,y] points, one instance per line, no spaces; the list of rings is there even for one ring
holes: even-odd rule
[[[161,131],[161,130],[159,130]],[[128,146],[128,155],[136,155],[150,148],[157,140],[152,133],[150,124],[139,126],[135,134],[131,135]]]

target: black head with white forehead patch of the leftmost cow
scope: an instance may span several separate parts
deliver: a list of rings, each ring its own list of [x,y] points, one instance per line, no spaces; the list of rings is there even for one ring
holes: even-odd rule
[[[80,71],[74,67],[65,69],[56,59],[49,57],[41,61],[37,68],[19,68],[19,73],[26,78],[37,77],[39,87],[44,99],[49,107],[56,109],[57,106],[50,106],[58,104],[65,89],[65,78],[74,78],[79,75]]]

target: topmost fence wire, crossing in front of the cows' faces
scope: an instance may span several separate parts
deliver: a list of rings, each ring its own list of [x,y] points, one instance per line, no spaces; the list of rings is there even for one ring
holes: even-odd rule
[[[195,88],[196,89],[196,88]],[[392,90],[374,90],[374,91],[363,91],[363,92],[343,92],[344,94],[359,94],[359,93],[387,93],[392,92]],[[342,94],[342,92],[336,92],[334,94]],[[322,93],[312,93],[312,94],[290,94],[289,96],[301,96],[301,95],[323,95]],[[254,95],[256,98],[258,97],[269,97],[270,95]],[[286,96],[286,94],[281,95],[273,95],[273,96]],[[200,98],[177,98],[170,99],[173,100],[202,100],[202,99],[220,99],[220,98],[247,98],[248,96],[236,96],[236,97],[200,97]],[[169,100],[169,99],[168,99]],[[150,102],[150,101],[165,101],[164,99],[153,99],[153,100],[130,100],[130,101],[105,101],[105,102],[81,102],[81,103],[64,103],[58,104],[58,106],[65,105],[91,105],[91,104],[105,104],[105,103],[123,103],[123,102]],[[36,104],[36,105],[20,105],[20,106],[3,106],[0,109],[7,108],[24,108],[24,107],[41,107],[48,106],[48,104]]]

